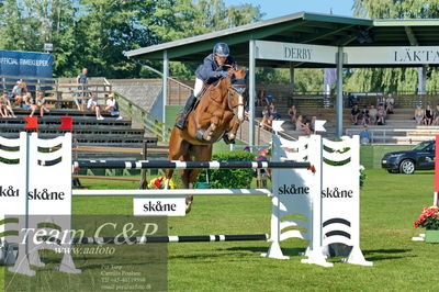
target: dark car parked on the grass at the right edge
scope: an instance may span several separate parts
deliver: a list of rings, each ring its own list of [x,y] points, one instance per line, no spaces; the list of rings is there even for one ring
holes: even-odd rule
[[[410,150],[386,153],[381,167],[391,173],[412,175],[415,170],[435,169],[435,141],[417,144]]]

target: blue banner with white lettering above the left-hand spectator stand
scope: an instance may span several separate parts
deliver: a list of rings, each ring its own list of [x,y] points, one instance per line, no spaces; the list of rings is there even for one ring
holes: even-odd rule
[[[0,49],[0,76],[52,78],[54,56]]]

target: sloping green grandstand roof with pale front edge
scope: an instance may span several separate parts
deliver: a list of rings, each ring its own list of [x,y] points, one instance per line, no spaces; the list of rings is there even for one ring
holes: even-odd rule
[[[299,12],[130,50],[125,56],[162,60],[164,50],[167,50],[170,60],[200,63],[211,53],[215,43],[224,42],[229,44],[239,63],[246,65],[249,59],[250,40],[330,46],[439,46],[439,20],[372,20]],[[258,67],[289,67],[291,61],[285,60],[258,59]],[[328,67],[327,64],[316,63],[293,65]]]

